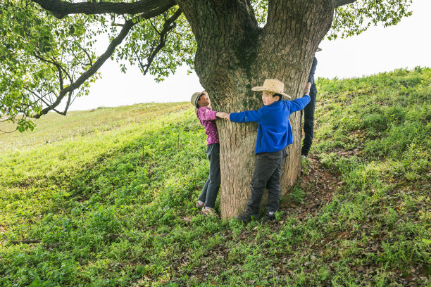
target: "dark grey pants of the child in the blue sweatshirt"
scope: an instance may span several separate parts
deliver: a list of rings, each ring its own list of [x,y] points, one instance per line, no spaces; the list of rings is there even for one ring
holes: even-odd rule
[[[258,213],[265,187],[268,189],[267,211],[275,212],[278,210],[280,205],[281,166],[286,157],[285,148],[275,153],[258,153],[256,155],[256,166],[251,178],[251,193],[247,203],[249,212]]]

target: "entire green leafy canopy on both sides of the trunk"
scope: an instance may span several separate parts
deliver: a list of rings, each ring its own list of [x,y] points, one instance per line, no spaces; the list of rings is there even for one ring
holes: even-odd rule
[[[145,1],[135,3],[141,2]],[[184,63],[192,70],[196,42],[174,4],[158,15],[114,9],[109,13],[66,11],[59,16],[49,11],[44,0],[0,0],[1,121],[13,122],[23,132],[35,127],[32,117],[51,110],[65,115],[77,96],[89,93],[89,85],[101,77],[98,70],[108,58],[120,63],[123,72],[125,63],[139,65],[144,75],[154,75],[156,81]],[[327,38],[350,37],[377,23],[396,25],[411,15],[409,4],[411,0],[358,0],[339,6]],[[268,0],[251,0],[251,6],[263,27]],[[106,40],[109,44],[101,49]]]

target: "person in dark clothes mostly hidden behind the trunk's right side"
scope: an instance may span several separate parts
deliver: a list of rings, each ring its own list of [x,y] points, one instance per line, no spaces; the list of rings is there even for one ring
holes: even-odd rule
[[[322,51],[318,48],[317,51]],[[311,141],[313,141],[314,134],[314,109],[316,108],[316,95],[317,88],[316,82],[314,81],[314,72],[316,72],[317,59],[313,58],[313,65],[311,65],[310,75],[308,75],[308,81],[304,88],[304,94],[310,95],[310,103],[304,108],[304,141],[302,143],[301,155],[306,158],[311,148]],[[302,111],[301,111],[301,123],[302,123]]]

